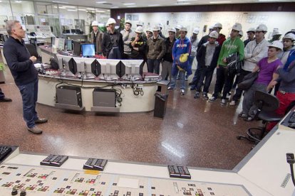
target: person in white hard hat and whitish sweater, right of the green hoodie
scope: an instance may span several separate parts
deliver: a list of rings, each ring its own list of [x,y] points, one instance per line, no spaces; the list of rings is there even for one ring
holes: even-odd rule
[[[266,57],[269,42],[264,38],[267,33],[267,27],[264,24],[260,24],[255,29],[255,39],[250,41],[244,49],[244,66],[240,74],[237,76],[237,84],[244,80],[244,77],[252,72],[256,67],[259,60]],[[242,97],[243,90],[237,88],[232,101],[229,105],[234,106],[237,104],[239,99]]]

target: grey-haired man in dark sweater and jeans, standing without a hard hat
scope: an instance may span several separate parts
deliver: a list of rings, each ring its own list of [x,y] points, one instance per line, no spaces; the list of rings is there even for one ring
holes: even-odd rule
[[[37,58],[31,56],[29,50],[24,45],[26,31],[24,31],[19,21],[7,21],[6,30],[9,38],[4,43],[4,57],[7,65],[14,77],[21,97],[23,99],[23,113],[26,126],[33,134],[42,134],[36,124],[45,123],[47,119],[41,119],[36,112],[36,102],[38,97],[38,72],[33,66]]]

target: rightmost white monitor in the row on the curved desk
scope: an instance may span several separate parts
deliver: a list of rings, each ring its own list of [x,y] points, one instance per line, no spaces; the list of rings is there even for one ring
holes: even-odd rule
[[[140,80],[143,76],[143,60],[121,60],[121,75],[124,80]]]

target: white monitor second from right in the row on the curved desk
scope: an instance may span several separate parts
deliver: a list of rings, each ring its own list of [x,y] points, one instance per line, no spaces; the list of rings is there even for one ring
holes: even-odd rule
[[[98,59],[101,67],[101,74],[98,76],[101,80],[118,80],[121,77],[120,60]]]

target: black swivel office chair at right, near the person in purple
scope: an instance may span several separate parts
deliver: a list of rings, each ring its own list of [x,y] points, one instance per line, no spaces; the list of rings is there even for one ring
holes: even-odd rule
[[[259,141],[266,135],[266,125],[269,121],[280,121],[283,116],[276,114],[276,109],[279,108],[279,99],[267,92],[256,91],[254,94],[254,104],[258,107],[257,114],[254,119],[262,120],[264,125],[262,128],[249,128],[246,131],[247,136],[237,136],[237,139],[247,139],[253,143]]]

